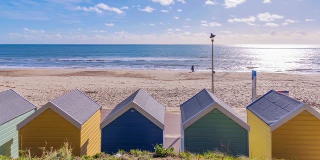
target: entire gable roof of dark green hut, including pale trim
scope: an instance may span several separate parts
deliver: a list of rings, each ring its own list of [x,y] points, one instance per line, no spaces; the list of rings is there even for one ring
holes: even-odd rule
[[[247,131],[250,130],[249,125],[240,118],[232,107],[217,98],[207,89],[203,89],[180,105],[183,130],[215,108]]]

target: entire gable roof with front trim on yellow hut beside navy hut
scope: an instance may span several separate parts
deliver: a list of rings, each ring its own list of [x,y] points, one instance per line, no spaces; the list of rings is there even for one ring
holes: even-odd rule
[[[81,130],[82,124],[86,122],[86,120],[88,120],[96,111],[98,111],[101,106],[80,90],[75,89],[46,103],[43,107],[20,122],[17,125],[17,130],[22,128],[48,108],[51,108],[54,112],[58,113],[64,119]]]

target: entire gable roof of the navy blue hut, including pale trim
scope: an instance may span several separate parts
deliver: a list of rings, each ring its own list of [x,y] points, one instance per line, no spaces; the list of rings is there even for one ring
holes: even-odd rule
[[[142,89],[138,89],[129,97],[116,105],[102,121],[100,124],[100,129],[111,123],[130,108],[136,109],[144,117],[164,130],[165,107]]]

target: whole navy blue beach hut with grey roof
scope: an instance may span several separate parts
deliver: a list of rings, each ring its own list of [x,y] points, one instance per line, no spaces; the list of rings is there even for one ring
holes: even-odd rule
[[[130,149],[154,151],[164,144],[165,107],[142,89],[115,106],[100,124],[101,152]]]

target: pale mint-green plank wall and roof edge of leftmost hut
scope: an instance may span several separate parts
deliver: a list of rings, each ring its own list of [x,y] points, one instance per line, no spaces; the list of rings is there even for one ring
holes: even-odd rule
[[[19,157],[18,131],[16,131],[16,125],[34,113],[34,111],[35,109],[26,112],[0,126],[0,155],[12,158]]]

